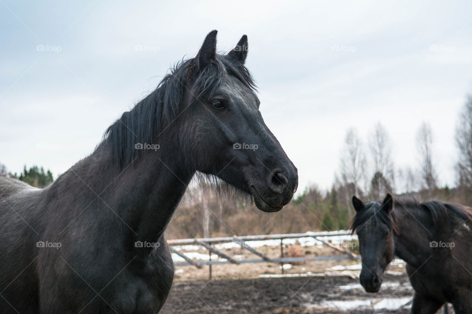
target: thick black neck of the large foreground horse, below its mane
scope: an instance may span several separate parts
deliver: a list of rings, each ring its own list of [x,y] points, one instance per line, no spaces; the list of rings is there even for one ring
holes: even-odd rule
[[[114,219],[117,224],[110,232],[125,233],[130,242],[156,242],[195,173],[185,165],[186,158],[173,138],[170,134],[163,136],[158,150],[143,150],[140,157],[121,169],[105,140],[56,183],[75,184],[74,192],[83,193],[83,199],[98,197],[102,201],[98,206],[107,216],[97,219]]]

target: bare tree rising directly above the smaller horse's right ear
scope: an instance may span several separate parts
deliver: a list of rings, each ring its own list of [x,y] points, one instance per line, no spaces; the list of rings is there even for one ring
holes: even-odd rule
[[[370,192],[374,199],[392,193],[394,186],[393,161],[388,133],[381,123],[375,126],[369,136],[369,149],[374,163]]]

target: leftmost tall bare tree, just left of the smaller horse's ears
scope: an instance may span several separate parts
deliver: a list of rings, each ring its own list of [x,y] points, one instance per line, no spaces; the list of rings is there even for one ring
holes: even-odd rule
[[[365,166],[366,158],[362,141],[354,129],[349,129],[344,139],[341,157],[341,182],[344,186],[352,184],[355,195],[360,195],[360,186],[365,179]],[[347,192],[345,194],[351,215],[353,213],[350,201],[352,195],[347,195]]]

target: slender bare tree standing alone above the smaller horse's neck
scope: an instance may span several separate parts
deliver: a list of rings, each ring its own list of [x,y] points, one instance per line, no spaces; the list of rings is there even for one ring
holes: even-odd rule
[[[416,147],[420,154],[420,180],[424,189],[431,194],[437,188],[436,169],[433,165],[433,131],[431,126],[423,122],[416,134]]]

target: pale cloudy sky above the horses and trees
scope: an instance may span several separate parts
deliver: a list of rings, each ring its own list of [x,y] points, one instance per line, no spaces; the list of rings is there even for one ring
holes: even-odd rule
[[[56,177],[217,29],[222,52],[248,35],[261,111],[299,190],[328,188],[346,130],[365,141],[378,122],[397,168],[417,167],[415,133],[429,122],[451,185],[472,92],[471,12],[471,1],[0,0],[0,163]]]

